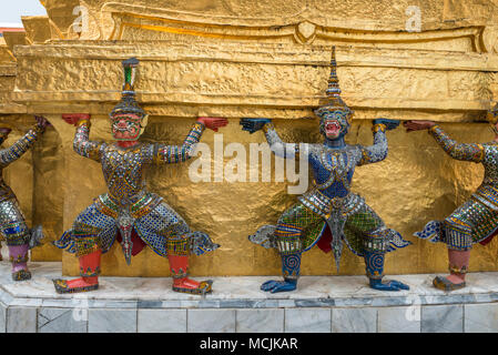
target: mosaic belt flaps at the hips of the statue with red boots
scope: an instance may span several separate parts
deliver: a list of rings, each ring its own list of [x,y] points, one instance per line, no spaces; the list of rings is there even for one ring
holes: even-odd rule
[[[121,200],[123,201],[123,200]],[[135,202],[119,203],[120,200],[104,193],[95,199],[96,207],[100,212],[113,219],[118,219],[123,207],[126,207],[133,219],[140,219],[149,214],[162,201],[162,197],[154,193],[145,192]]]

